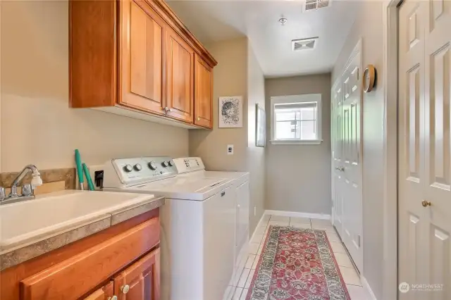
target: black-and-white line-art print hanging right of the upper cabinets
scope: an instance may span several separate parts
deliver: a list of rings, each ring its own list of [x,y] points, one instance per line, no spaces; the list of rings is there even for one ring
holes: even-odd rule
[[[243,118],[242,96],[219,97],[218,114],[218,127],[241,128]]]

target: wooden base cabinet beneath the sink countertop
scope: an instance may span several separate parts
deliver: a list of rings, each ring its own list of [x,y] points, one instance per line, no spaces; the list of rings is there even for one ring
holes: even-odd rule
[[[0,272],[1,300],[159,300],[159,211]]]

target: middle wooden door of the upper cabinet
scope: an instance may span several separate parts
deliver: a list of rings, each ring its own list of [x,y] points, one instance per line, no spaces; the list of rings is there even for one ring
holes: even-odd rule
[[[176,32],[166,39],[166,106],[173,118],[192,123],[194,50]]]

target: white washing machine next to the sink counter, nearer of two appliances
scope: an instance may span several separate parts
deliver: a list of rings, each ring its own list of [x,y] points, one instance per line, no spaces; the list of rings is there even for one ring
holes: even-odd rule
[[[104,190],[166,197],[161,219],[161,299],[221,300],[233,277],[235,188],[221,177],[177,176],[168,157],[108,161]]]

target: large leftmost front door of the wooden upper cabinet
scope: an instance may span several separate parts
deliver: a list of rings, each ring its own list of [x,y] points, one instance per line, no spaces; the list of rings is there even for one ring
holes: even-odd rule
[[[120,104],[164,115],[164,21],[145,1],[121,1]]]

